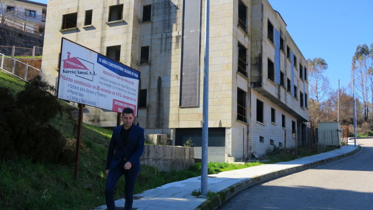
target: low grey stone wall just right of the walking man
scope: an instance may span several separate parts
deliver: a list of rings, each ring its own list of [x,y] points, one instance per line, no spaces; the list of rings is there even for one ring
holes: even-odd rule
[[[184,146],[145,145],[141,164],[160,171],[179,171],[194,165],[194,148]]]

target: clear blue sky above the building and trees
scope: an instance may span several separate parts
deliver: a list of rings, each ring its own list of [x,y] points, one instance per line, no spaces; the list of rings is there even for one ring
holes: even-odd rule
[[[34,0],[47,3],[47,0]],[[269,0],[306,59],[321,57],[333,89],[351,81],[358,44],[373,43],[372,0]]]

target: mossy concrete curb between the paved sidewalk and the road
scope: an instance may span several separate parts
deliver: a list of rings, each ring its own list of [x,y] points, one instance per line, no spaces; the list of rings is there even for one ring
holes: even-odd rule
[[[195,210],[214,210],[217,207],[219,207],[220,205],[222,205],[230,197],[232,197],[233,195],[237,194],[238,192],[240,192],[240,191],[242,191],[242,190],[244,190],[244,189],[246,189],[250,186],[253,186],[257,183],[264,182],[266,180],[273,179],[273,178],[276,178],[276,177],[279,177],[279,176],[287,175],[289,173],[298,172],[300,170],[309,169],[309,168],[314,167],[314,166],[319,166],[319,165],[322,165],[322,164],[325,164],[325,163],[329,163],[331,161],[335,161],[335,160],[338,160],[338,159],[341,159],[341,158],[344,158],[344,157],[348,157],[350,155],[355,154],[360,149],[360,147],[361,146],[358,145],[353,151],[345,153],[345,154],[341,154],[341,155],[338,155],[338,156],[335,156],[335,157],[326,158],[326,159],[323,159],[323,160],[315,161],[313,163],[308,163],[308,164],[304,164],[304,165],[301,165],[301,166],[291,167],[291,168],[288,168],[288,169],[273,171],[273,172],[270,172],[270,173],[267,173],[267,174],[263,174],[263,175],[260,175],[260,176],[255,176],[255,177],[252,177],[252,178],[245,179],[241,182],[238,182],[238,183],[236,183],[232,186],[229,186],[229,187],[223,189],[220,192],[217,192],[216,196],[214,196],[213,198],[211,198],[209,200],[206,200],[205,202],[201,203],[200,206],[195,208]]]

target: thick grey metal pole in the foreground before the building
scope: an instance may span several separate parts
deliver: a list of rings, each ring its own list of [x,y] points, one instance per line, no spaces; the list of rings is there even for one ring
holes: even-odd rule
[[[203,109],[202,109],[202,169],[201,195],[207,195],[207,152],[209,142],[209,37],[210,0],[205,1],[205,55],[203,67]]]

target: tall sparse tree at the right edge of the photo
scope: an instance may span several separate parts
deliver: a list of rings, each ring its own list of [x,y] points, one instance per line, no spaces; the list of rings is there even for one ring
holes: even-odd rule
[[[368,120],[369,99],[373,95],[373,44],[358,45],[352,57],[352,72],[354,74],[356,96],[363,103],[364,121]],[[372,99],[373,100],[373,99]],[[372,101],[373,103],[373,101]]]

